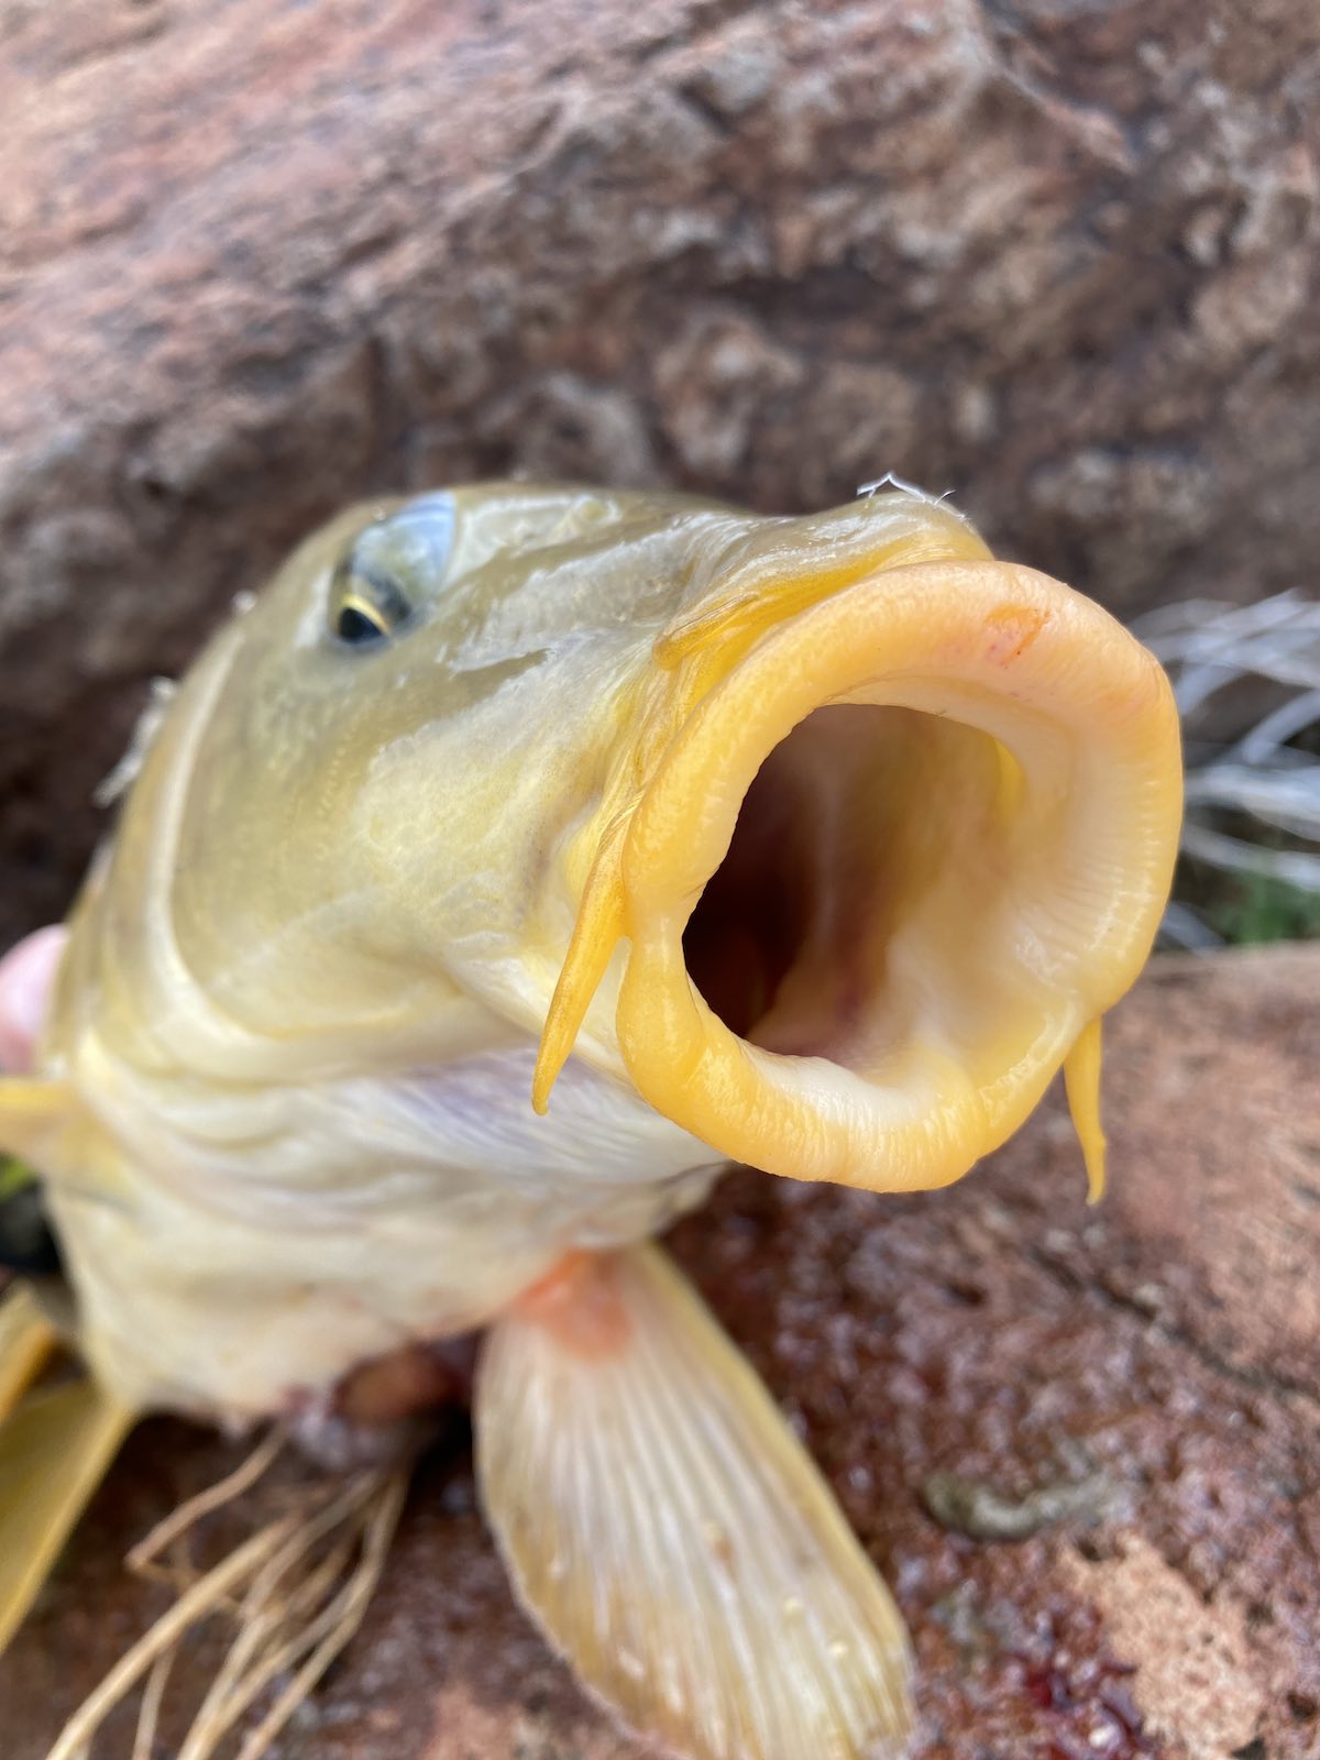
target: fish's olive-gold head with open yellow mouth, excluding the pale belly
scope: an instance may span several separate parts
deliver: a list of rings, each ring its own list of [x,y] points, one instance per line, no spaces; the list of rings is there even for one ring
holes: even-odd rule
[[[720,1156],[901,1190],[1072,1056],[1095,1181],[1179,804],[1156,662],[943,503],[479,484],[347,512],[220,632],[106,891],[239,1074],[539,1040],[539,1111],[574,1054]]]

